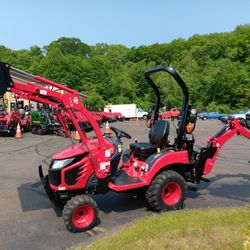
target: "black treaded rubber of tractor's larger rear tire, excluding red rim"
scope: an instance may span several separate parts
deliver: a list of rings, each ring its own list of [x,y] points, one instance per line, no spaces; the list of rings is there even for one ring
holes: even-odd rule
[[[164,182],[167,179],[178,180],[178,183],[182,189],[182,197],[175,206],[166,206],[161,199],[161,188],[164,186]],[[166,211],[166,210],[177,210],[184,207],[184,200],[186,199],[187,185],[184,178],[173,170],[166,170],[158,174],[148,190],[146,191],[146,201],[149,207],[157,212]]]

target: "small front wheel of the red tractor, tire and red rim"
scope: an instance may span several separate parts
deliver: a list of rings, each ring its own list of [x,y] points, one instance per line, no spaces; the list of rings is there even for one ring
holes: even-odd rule
[[[72,232],[83,232],[94,227],[98,217],[98,207],[88,195],[77,195],[67,201],[63,209],[66,228]]]

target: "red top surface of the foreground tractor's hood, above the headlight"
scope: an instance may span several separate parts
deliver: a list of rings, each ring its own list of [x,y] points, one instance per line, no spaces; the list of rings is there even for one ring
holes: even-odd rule
[[[92,152],[92,154],[98,149],[99,144],[96,139],[88,142],[88,148]],[[84,154],[88,152],[88,149],[84,143],[77,143],[68,148],[65,148],[63,151],[54,154],[52,156],[53,160],[62,160],[67,158],[76,157],[78,155]]]

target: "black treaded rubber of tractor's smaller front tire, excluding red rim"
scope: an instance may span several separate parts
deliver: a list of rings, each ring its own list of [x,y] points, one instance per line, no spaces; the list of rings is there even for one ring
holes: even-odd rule
[[[89,226],[81,229],[81,228],[77,228],[73,225],[72,214],[73,214],[74,209],[76,207],[78,207],[80,205],[84,205],[84,204],[91,205],[93,207],[93,209],[95,211],[95,218]],[[64,206],[64,209],[63,209],[64,223],[66,225],[66,228],[72,233],[83,232],[83,231],[91,229],[95,225],[97,217],[98,217],[97,204],[96,204],[95,200],[88,195],[77,195],[77,196],[72,197],[70,200],[68,200],[68,202],[66,203],[66,205]]]

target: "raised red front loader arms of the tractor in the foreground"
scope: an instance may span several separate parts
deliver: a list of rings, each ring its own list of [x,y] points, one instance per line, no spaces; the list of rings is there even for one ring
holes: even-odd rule
[[[102,132],[94,117],[81,103],[78,91],[41,76],[31,75],[11,67],[7,63],[0,62],[0,95],[3,95],[7,91],[16,94],[17,98],[50,105],[55,111],[67,137],[71,137],[60,110],[67,112],[75,129],[79,133],[82,143],[88,149],[88,141],[90,139],[80,127],[82,121],[81,117],[86,117],[95,131],[99,144],[100,154],[98,162],[109,161],[105,156],[107,144],[105,143]],[[91,152],[89,153],[91,154]],[[98,168],[98,163],[96,161],[93,162],[93,165]]]

